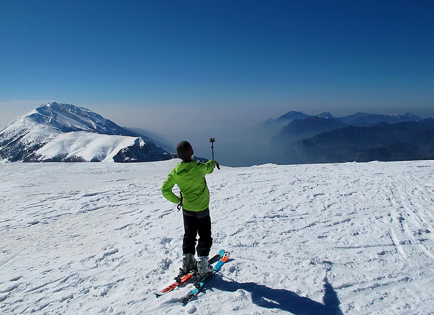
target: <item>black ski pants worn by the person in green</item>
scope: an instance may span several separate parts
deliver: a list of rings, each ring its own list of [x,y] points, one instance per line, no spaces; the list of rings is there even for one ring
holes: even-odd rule
[[[182,242],[183,254],[193,254],[196,246],[196,236],[199,234],[197,243],[197,256],[209,256],[212,245],[211,237],[211,217],[209,209],[203,211],[182,210],[184,216],[184,239]]]

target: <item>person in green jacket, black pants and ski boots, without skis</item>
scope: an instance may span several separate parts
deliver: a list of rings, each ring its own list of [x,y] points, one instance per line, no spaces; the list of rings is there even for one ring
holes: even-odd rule
[[[178,204],[178,209],[182,207],[184,238],[180,276],[197,270],[197,276],[201,279],[212,272],[212,266],[208,263],[212,237],[208,208],[209,190],[205,175],[212,173],[218,163],[214,160],[209,160],[206,163],[193,160],[193,148],[187,141],[178,143],[176,153],[182,162],[178,163],[168,175],[161,186],[161,193],[167,200]],[[172,192],[175,184],[181,190],[180,196],[176,196]],[[199,240],[196,247],[198,258],[196,261],[194,254],[197,234],[199,234]]]

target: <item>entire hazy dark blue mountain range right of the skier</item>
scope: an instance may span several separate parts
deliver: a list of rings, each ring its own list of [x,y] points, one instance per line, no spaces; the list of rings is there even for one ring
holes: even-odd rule
[[[303,114],[291,111],[281,117],[295,113]],[[268,123],[279,125],[278,119]],[[278,163],[434,159],[434,119],[412,113],[334,117],[326,112],[290,120],[270,142]]]

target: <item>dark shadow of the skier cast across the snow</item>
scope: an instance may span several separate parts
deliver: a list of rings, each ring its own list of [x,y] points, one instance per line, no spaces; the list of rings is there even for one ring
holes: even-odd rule
[[[327,277],[324,281],[322,303],[289,290],[273,289],[254,282],[239,283],[233,280],[218,279],[214,281],[212,287],[228,292],[235,292],[240,289],[250,292],[252,302],[260,307],[278,308],[299,315],[342,315],[337,293],[328,282]]]

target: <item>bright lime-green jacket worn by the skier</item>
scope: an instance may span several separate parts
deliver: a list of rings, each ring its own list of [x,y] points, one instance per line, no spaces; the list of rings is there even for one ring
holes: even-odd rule
[[[206,163],[180,162],[170,172],[161,186],[163,196],[178,204],[180,199],[172,192],[175,184],[182,192],[182,207],[189,211],[202,211],[209,206],[209,190],[206,185],[205,175],[212,173],[215,162],[209,160]]]

